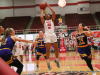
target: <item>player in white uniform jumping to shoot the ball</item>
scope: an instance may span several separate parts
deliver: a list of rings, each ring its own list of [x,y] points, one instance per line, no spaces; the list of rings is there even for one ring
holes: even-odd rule
[[[47,3],[46,3],[47,4]],[[47,65],[48,70],[51,70],[50,62],[49,62],[49,55],[50,55],[50,47],[51,43],[54,46],[56,60],[55,63],[57,67],[60,68],[59,60],[58,60],[58,44],[57,44],[57,37],[54,33],[54,20],[55,20],[55,11],[47,4],[47,6],[52,11],[52,18],[50,18],[49,14],[45,15],[46,20],[43,18],[43,10],[41,9],[41,22],[44,25],[45,35],[44,35],[44,42],[46,43],[46,57],[47,57]]]

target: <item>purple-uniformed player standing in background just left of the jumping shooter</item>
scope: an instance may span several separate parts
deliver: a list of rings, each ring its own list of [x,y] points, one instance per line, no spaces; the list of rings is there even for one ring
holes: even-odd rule
[[[40,31],[39,32],[39,37],[36,38],[36,41],[38,41],[38,47],[37,47],[37,55],[36,55],[36,71],[39,70],[39,58],[41,56],[41,54],[44,55],[45,59],[46,59],[46,47],[45,47],[45,43],[44,43],[44,39],[43,39],[43,32]],[[34,50],[35,50],[36,44],[34,46]]]

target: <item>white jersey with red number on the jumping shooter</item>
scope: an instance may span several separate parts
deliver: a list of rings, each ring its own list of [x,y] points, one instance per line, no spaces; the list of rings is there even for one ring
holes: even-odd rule
[[[45,33],[54,33],[54,23],[52,20],[45,20],[44,22]]]

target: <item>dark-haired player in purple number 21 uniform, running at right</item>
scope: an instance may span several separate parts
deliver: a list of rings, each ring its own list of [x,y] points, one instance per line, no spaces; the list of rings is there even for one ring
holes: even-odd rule
[[[84,31],[84,29],[88,31]],[[93,72],[92,75],[96,75],[93,70],[91,61],[92,61],[92,54],[91,49],[87,43],[87,36],[94,36],[93,32],[88,29],[83,23],[80,23],[78,26],[78,32],[76,34],[76,42],[78,47],[78,52],[82,59],[84,59],[87,63],[87,66]]]

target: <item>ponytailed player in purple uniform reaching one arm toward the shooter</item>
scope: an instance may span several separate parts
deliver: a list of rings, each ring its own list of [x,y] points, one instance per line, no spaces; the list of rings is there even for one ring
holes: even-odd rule
[[[16,57],[14,57],[11,52],[16,41],[34,43],[34,44],[37,44],[38,42],[32,42],[15,37],[15,31],[13,28],[7,28],[3,38],[0,38],[1,42],[0,57],[8,65],[17,67],[18,69],[16,72],[20,75],[23,69],[23,64]]]

